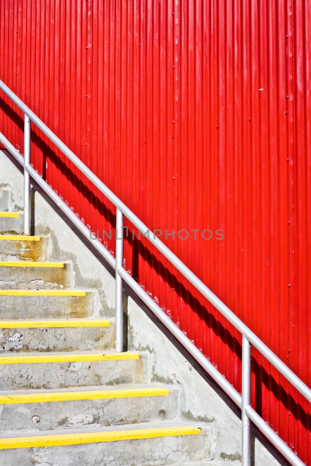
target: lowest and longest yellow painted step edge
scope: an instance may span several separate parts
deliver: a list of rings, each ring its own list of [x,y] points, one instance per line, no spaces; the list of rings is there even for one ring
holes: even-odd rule
[[[133,429],[111,432],[86,432],[77,434],[38,435],[0,439],[0,449],[31,448],[40,446],[79,445],[84,443],[115,442],[117,440],[154,439],[200,434],[201,429],[193,426],[159,427],[158,429]]]

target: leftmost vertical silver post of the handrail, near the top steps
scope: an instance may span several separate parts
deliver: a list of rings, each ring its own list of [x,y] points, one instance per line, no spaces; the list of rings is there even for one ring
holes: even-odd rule
[[[26,165],[30,164],[30,118],[24,116],[24,234],[30,235],[30,176]]]

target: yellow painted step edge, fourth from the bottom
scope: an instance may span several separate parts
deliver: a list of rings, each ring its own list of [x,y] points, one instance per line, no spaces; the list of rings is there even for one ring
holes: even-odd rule
[[[68,319],[42,321],[1,321],[0,329],[52,329],[69,327],[109,327],[110,321],[104,319]]]

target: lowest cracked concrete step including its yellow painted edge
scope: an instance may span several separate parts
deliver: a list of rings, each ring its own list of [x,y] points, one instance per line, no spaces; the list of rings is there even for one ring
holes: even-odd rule
[[[0,434],[0,448],[10,448],[0,450],[1,463],[23,466],[169,465],[208,458],[211,446],[209,426],[201,430],[200,426],[177,421],[53,433],[42,431],[40,434]]]

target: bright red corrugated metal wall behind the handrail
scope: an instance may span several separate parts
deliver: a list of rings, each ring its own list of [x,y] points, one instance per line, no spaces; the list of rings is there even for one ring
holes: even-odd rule
[[[0,78],[309,386],[310,73],[309,0],[0,0]],[[1,95],[21,153],[22,128]],[[112,206],[36,128],[31,150],[109,232]],[[240,390],[240,335],[137,236],[127,270]],[[254,355],[253,404],[311,465],[310,406]]]

